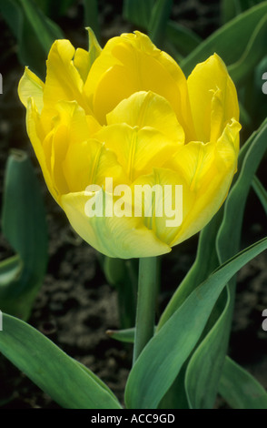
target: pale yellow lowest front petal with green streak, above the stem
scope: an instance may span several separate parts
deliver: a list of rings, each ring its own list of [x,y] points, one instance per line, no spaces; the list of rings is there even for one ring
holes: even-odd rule
[[[62,198],[62,207],[75,231],[96,250],[109,257],[131,259],[169,252],[168,245],[146,229],[140,219],[117,217],[88,218],[84,207],[88,197],[70,193]]]

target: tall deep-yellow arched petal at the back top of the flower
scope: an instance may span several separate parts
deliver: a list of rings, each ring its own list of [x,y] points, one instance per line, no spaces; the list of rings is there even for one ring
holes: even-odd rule
[[[193,138],[183,72],[171,56],[157,49],[142,33],[124,34],[109,40],[95,60],[84,87],[101,123],[124,98],[149,90],[169,101],[186,135]]]

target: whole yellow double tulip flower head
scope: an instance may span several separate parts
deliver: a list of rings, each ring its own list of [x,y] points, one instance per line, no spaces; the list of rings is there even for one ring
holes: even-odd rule
[[[55,41],[45,83],[25,68],[18,92],[48,189],[76,232],[105,255],[167,253],[223,204],[241,126],[235,87],[216,54],[186,80],[148,36],[123,34],[102,50],[91,31],[89,52]],[[124,203],[106,188],[106,178],[131,190]],[[91,185],[96,190],[86,191]],[[151,215],[142,199],[134,207],[136,186],[145,185],[183,187],[181,224],[168,226],[165,211],[156,215],[154,199]],[[93,196],[95,205],[98,198],[128,214],[88,215]]]

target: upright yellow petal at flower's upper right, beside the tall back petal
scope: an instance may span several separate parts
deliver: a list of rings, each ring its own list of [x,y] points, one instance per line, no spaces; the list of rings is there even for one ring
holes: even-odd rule
[[[230,120],[239,119],[236,89],[222,59],[214,54],[187,80],[193,124],[199,141],[216,141]]]

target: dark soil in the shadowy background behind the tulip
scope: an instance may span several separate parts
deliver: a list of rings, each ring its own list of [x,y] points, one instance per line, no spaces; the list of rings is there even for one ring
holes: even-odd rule
[[[115,4],[115,6],[114,6]],[[124,22],[121,1],[100,1],[102,44],[111,36],[133,31]],[[218,2],[200,0],[174,2],[173,19],[208,36],[218,22]],[[0,18],[1,19],[1,18]],[[56,205],[44,186],[41,170],[25,131],[25,109],[16,87],[23,66],[17,62],[14,37],[1,19],[1,68],[4,93],[0,97],[0,199],[3,194],[5,162],[11,148],[24,149],[32,159],[44,193],[49,233],[49,263],[44,284],[37,296],[29,320],[74,359],[95,372],[123,403],[124,385],[131,368],[131,346],[111,340],[105,333],[119,328],[117,293],[107,284],[97,253],[70,228],[64,212]],[[80,2],[61,19],[64,34],[74,46],[86,46],[83,10]],[[257,199],[251,195],[244,220],[242,245],[261,239],[266,233],[266,217]],[[0,260],[11,250],[0,236]],[[173,288],[191,267],[197,237],[163,257],[160,307],[166,304]],[[236,308],[232,324],[230,354],[267,388],[267,332],[262,330],[262,311],[267,308],[267,253],[252,260],[238,275]],[[50,397],[40,391],[13,364],[0,356],[0,405],[5,409],[57,408]],[[223,401],[217,407],[227,407]]]

